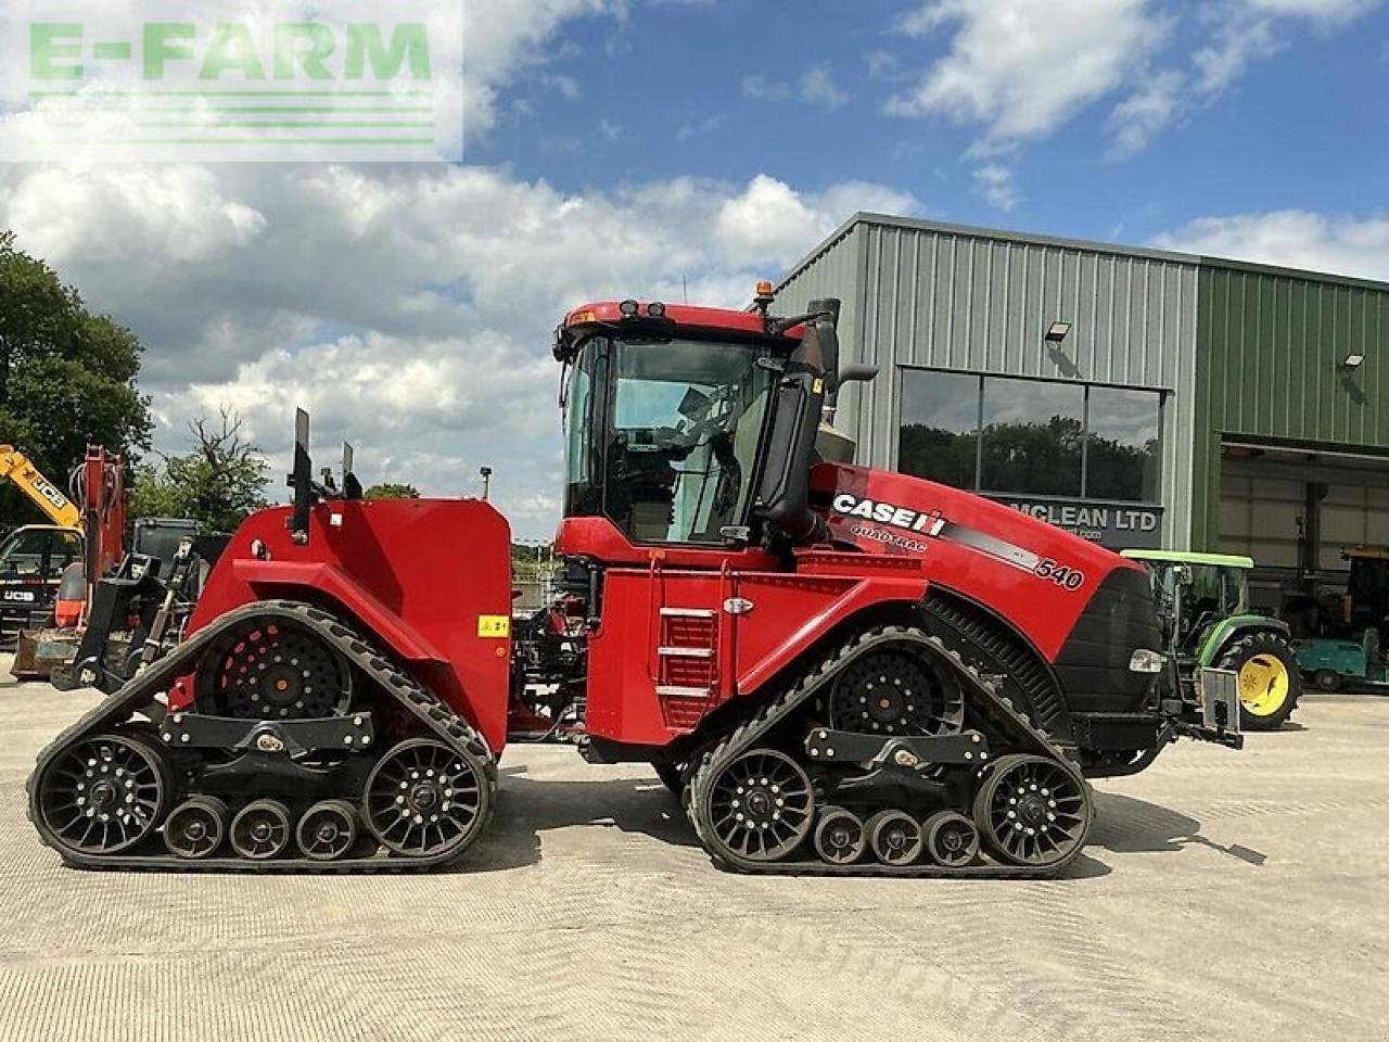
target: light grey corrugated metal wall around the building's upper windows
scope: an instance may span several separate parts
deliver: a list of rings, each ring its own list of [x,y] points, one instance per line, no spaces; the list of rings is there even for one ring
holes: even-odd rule
[[[845,299],[843,343],[882,375],[842,411],[858,458],[896,465],[900,365],[1174,392],[1164,415],[1167,545],[1190,531],[1197,267],[1082,245],[867,218],[797,270],[779,310]],[[1074,324],[1060,349],[1053,321]]]

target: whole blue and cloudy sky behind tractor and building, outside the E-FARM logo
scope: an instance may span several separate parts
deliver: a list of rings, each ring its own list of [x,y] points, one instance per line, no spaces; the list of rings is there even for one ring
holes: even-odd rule
[[[226,406],[281,471],[304,406],[544,538],[558,318],[740,306],[860,208],[1389,281],[1386,0],[467,4],[463,164],[0,167],[160,447]]]

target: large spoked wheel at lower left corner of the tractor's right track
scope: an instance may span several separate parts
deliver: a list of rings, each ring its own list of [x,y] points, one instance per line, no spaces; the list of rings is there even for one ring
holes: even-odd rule
[[[714,849],[725,861],[779,861],[810,835],[815,793],[800,764],[776,749],[750,749],[728,763],[707,788]]]

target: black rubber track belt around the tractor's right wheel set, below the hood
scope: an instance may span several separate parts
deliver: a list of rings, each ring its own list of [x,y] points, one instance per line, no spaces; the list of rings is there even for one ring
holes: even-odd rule
[[[779,861],[754,861],[742,857],[729,857],[724,852],[715,850],[711,843],[714,834],[713,824],[704,818],[700,807],[707,806],[707,799],[704,799],[707,789],[714,784],[718,774],[738,756],[754,749],[764,735],[806,704],[818,690],[832,684],[856,659],[868,654],[876,647],[901,643],[911,645],[942,668],[950,670],[960,679],[970,704],[1017,743],[1010,752],[1028,752],[1061,763],[1074,772],[1081,785],[1089,786],[1089,782],[1081,775],[1079,768],[1070,761],[1063,750],[1047,735],[1035,728],[1024,713],[1015,710],[1008,699],[999,696],[993,686],[985,682],[972,667],[967,665],[956,652],[946,647],[940,638],[928,636],[914,627],[878,627],[850,638],[826,657],[821,659],[789,690],[770,702],[751,720],[735,728],[724,741],[706,752],[690,772],[685,799],[686,814],[694,827],[696,836],[715,866],[749,875],[1042,879],[1058,874],[1079,856],[1085,846],[1083,842],[1076,843],[1075,850],[1064,860],[1045,867],[996,863],[961,867],[945,867],[929,863],[890,866],[878,861],[828,864],[814,857],[813,853],[808,857],[793,854]],[[996,756],[995,759],[1000,757]],[[1089,825],[1086,827],[1088,831]],[[808,841],[801,845],[801,850],[797,854],[803,853],[807,846]]]

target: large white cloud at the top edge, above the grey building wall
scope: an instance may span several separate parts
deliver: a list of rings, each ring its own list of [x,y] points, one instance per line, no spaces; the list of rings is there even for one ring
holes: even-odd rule
[[[888,111],[982,124],[983,153],[1050,135],[1165,35],[1146,0],[931,0],[899,24],[917,38],[946,26],[950,53]]]

